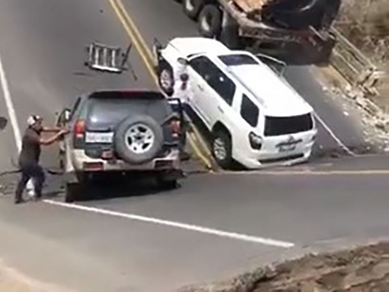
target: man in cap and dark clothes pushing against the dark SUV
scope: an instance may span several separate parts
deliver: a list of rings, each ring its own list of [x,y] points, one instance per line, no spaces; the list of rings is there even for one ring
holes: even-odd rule
[[[24,132],[22,139],[22,147],[19,154],[19,166],[21,169],[21,179],[15,193],[15,203],[23,201],[22,194],[26,184],[30,179],[33,179],[35,186],[35,198],[39,199],[42,196],[42,187],[45,182],[45,174],[43,168],[39,165],[40,146],[51,145],[58,141],[63,135],[69,131],[61,128],[46,128],[42,126],[42,118],[37,115],[32,115],[27,120],[28,128]],[[42,139],[42,132],[56,133],[49,139]]]

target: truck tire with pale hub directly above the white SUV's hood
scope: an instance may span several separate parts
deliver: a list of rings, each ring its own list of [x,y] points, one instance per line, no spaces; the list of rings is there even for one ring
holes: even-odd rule
[[[218,37],[222,27],[222,12],[215,5],[205,5],[198,16],[198,30],[203,37]]]

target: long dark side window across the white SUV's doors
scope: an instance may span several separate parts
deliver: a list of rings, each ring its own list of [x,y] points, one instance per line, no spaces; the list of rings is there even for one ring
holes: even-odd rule
[[[236,86],[223,71],[206,56],[194,58],[190,65],[228,105],[232,105]]]

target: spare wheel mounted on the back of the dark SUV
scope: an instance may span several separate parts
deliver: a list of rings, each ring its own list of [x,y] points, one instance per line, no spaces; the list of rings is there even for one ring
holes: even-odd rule
[[[118,125],[114,134],[117,155],[130,164],[142,164],[152,160],[162,144],[161,126],[146,115],[128,117]]]

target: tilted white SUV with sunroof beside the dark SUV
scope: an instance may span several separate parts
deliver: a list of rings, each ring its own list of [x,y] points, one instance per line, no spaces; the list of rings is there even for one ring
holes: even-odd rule
[[[208,38],[175,38],[157,48],[159,84],[171,91],[187,61],[188,103],[211,131],[212,153],[228,168],[290,165],[309,158],[313,109],[258,57]]]

